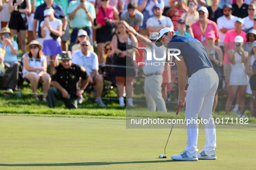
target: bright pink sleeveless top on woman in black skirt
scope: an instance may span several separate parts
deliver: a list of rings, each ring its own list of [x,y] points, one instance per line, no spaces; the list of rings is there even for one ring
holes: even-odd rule
[[[97,24],[101,24],[101,26],[106,26],[106,20],[104,19],[102,8],[101,8],[101,6],[99,6],[98,8],[99,8],[99,13],[96,15],[96,22],[97,22]],[[113,6],[108,5],[107,12],[105,11],[104,8],[103,8],[103,10],[108,19],[114,19]]]

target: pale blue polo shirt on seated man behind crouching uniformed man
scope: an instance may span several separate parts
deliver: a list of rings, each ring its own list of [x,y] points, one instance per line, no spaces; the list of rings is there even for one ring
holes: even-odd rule
[[[82,50],[77,50],[72,54],[72,63],[83,66],[90,75],[94,69],[99,69],[97,54],[88,50],[85,56]]]

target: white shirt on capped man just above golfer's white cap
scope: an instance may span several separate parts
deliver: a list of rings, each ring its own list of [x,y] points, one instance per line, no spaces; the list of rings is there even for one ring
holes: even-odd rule
[[[166,27],[170,27],[173,25],[172,19],[166,16],[162,16],[161,18],[157,19],[155,16],[149,18],[146,22],[147,28],[149,26],[152,27],[159,27],[161,25],[166,25]]]

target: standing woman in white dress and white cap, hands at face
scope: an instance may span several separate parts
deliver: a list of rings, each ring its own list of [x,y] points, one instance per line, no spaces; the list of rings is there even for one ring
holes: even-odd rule
[[[235,38],[236,48],[235,50],[227,51],[227,57],[230,61],[231,73],[230,73],[230,93],[227,98],[225,112],[228,115],[231,104],[236,97],[237,91],[240,93],[237,94],[237,98],[240,98],[240,113],[243,113],[245,105],[245,92],[246,86],[248,85],[248,76],[245,73],[244,63],[248,57],[248,52],[243,50],[243,37],[240,35]]]

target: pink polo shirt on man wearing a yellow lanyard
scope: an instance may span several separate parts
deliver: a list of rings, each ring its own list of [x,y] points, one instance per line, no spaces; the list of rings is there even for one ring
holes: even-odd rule
[[[204,41],[202,40],[202,35],[204,35],[204,37],[207,35],[208,32],[214,32],[215,34],[215,41],[219,40],[220,39],[220,33],[219,33],[219,29],[218,29],[218,26],[216,24],[216,22],[214,21],[211,21],[209,19],[207,19],[207,28],[203,34],[202,30],[201,30],[201,27],[199,25],[199,21],[195,22],[194,24],[191,25],[191,28],[192,28],[192,31],[193,31],[193,34],[194,34],[194,38],[197,39],[198,41],[200,42],[205,42],[205,39],[204,38]],[[204,30],[204,26],[202,26],[203,30]]]

